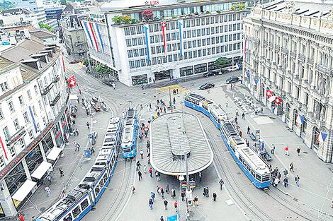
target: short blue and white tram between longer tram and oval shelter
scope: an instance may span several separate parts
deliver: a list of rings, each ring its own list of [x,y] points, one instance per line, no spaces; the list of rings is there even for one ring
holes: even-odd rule
[[[137,110],[129,107],[125,114],[121,151],[123,158],[133,158],[137,153]]]

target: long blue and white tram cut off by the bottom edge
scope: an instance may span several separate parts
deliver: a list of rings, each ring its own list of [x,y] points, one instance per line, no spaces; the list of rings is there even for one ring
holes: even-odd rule
[[[81,220],[101,198],[113,176],[118,156],[115,146],[120,143],[120,118],[111,118],[111,121],[116,128],[113,145],[99,150],[94,165],[79,185],[40,215],[38,217],[40,221]],[[111,121],[108,126],[111,126]]]

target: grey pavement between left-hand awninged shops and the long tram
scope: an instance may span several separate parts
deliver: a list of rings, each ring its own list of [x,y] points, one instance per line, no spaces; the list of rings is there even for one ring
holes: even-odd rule
[[[78,95],[79,97],[79,95]],[[87,97],[88,99],[88,97]],[[90,97],[89,97],[90,99]],[[84,156],[84,149],[88,145],[87,135],[90,133],[90,130],[86,127],[86,122],[91,122],[91,117],[86,116],[86,111],[81,104],[77,101],[73,102],[78,107],[77,111],[77,120],[74,124],[74,129],[79,131],[79,136],[69,136],[69,144],[65,145],[63,153],[64,157],[61,157],[53,171],[50,173],[52,181],[50,184],[51,195],[47,198],[45,185],[42,184],[38,187],[38,190],[33,193],[33,196],[30,197],[26,205],[21,208],[21,213],[27,214],[28,220],[31,220],[33,216],[37,216],[40,213],[43,213],[50,205],[53,205],[60,199],[62,190],[65,188],[68,193],[74,189],[79,181],[84,177],[86,172],[89,171],[91,165],[94,164],[96,154],[98,149],[103,142],[103,137],[105,133],[106,126],[108,124],[108,112],[100,112],[94,114],[94,119],[96,119],[96,124],[91,124],[92,130],[98,133],[98,138],[96,141],[95,153],[91,158],[86,158]],[[79,143],[80,151],[75,151],[73,142]],[[59,168],[62,168],[64,171],[64,176],[60,177]]]

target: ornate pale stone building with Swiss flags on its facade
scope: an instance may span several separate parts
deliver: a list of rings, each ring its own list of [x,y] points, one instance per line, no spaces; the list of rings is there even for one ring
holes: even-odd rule
[[[333,162],[332,56],[332,3],[273,1],[244,18],[245,85],[324,162]]]

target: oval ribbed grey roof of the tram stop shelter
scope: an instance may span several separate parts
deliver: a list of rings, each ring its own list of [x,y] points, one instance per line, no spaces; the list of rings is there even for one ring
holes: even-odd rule
[[[164,114],[149,126],[150,162],[162,174],[185,175],[185,153],[188,173],[195,174],[213,162],[213,150],[198,117],[184,112]]]

